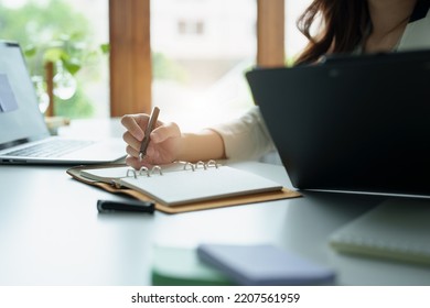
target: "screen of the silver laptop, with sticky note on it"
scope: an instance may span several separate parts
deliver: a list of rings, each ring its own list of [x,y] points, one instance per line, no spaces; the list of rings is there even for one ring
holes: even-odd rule
[[[20,46],[0,42],[0,150],[47,134]]]

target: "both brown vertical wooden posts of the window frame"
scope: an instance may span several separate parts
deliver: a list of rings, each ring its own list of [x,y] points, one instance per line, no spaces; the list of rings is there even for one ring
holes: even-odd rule
[[[110,117],[151,111],[150,0],[109,0]],[[257,0],[257,65],[284,64],[284,0]]]

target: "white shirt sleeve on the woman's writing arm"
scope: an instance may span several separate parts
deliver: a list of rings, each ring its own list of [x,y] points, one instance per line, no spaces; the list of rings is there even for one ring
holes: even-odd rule
[[[239,119],[211,129],[223,138],[225,154],[229,160],[257,160],[275,150],[273,142],[257,106]]]

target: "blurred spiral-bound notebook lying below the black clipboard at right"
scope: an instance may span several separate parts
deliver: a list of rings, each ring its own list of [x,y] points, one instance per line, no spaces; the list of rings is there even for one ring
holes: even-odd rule
[[[330,237],[341,253],[430,264],[430,200],[396,198]]]

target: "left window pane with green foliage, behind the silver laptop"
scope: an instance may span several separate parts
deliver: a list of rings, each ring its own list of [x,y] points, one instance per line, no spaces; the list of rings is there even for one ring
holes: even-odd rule
[[[39,90],[45,89],[43,58],[68,57],[66,69],[55,65],[56,116],[108,117],[108,57],[99,48],[108,43],[108,1],[0,0],[0,37],[18,41],[28,52]],[[78,67],[72,77],[67,69]]]

